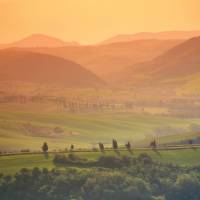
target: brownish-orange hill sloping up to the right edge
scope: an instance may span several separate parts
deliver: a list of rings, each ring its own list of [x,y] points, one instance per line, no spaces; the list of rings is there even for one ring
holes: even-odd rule
[[[123,72],[123,80],[129,84],[168,84],[184,86],[199,80],[200,37],[192,38],[170,49],[149,62],[129,67]]]

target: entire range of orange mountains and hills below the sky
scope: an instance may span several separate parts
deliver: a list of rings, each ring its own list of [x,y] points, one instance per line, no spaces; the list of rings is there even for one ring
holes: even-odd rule
[[[14,48],[0,51],[0,81],[67,87],[105,86],[105,81],[126,87],[196,88],[200,85],[200,37],[185,40],[196,34],[200,32],[143,33],[134,36],[143,39],[91,46],[30,36],[16,42]],[[157,39],[144,39],[153,36]]]

